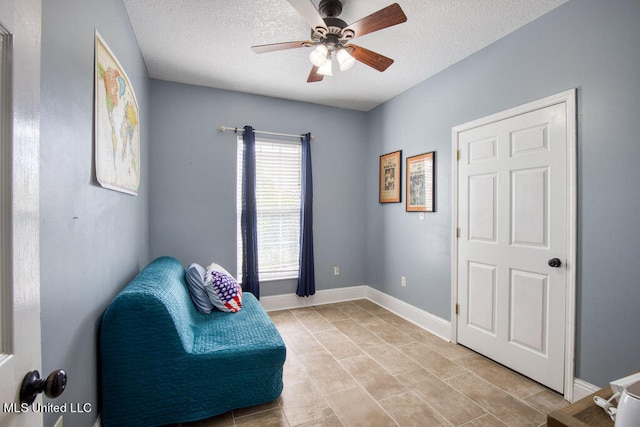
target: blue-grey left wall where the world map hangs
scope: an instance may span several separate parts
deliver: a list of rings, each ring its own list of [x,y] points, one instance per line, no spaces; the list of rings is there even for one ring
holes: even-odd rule
[[[42,2],[40,260],[42,369],[65,369],[54,404],[90,403],[65,426],[98,417],[98,325],[106,305],[148,260],[149,79],[121,1]],[[93,169],[94,29],[127,72],[140,107],[139,195],[106,190]],[[59,414],[45,414],[50,426]]]

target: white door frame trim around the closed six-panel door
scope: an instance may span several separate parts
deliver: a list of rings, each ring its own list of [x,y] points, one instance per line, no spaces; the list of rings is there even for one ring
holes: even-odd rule
[[[477,120],[454,126],[451,130],[452,153],[452,232],[451,232],[451,342],[458,342],[458,197],[459,197],[459,134],[490,123],[525,114],[557,104],[566,106],[567,124],[567,258],[565,268],[565,356],[564,398],[573,401],[575,379],[575,296],[576,296],[576,250],[577,250],[577,89],[570,89],[537,101],[510,108]]]

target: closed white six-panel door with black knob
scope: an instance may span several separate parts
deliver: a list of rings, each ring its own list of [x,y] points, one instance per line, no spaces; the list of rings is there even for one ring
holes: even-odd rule
[[[569,128],[557,103],[454,132],[457,341],[559,392],[574,225]]]

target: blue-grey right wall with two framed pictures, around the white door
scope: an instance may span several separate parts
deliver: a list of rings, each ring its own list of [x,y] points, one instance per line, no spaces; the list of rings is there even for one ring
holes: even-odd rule
[[[602,386],[640,354],[640,2],[574,0],[371,111],[368,164],[437,151],[437,213],[377,203],[367,283],[451,319],[451,128],[578,88],[577,377]],[[400,275],[407,287],[400,287]]]

